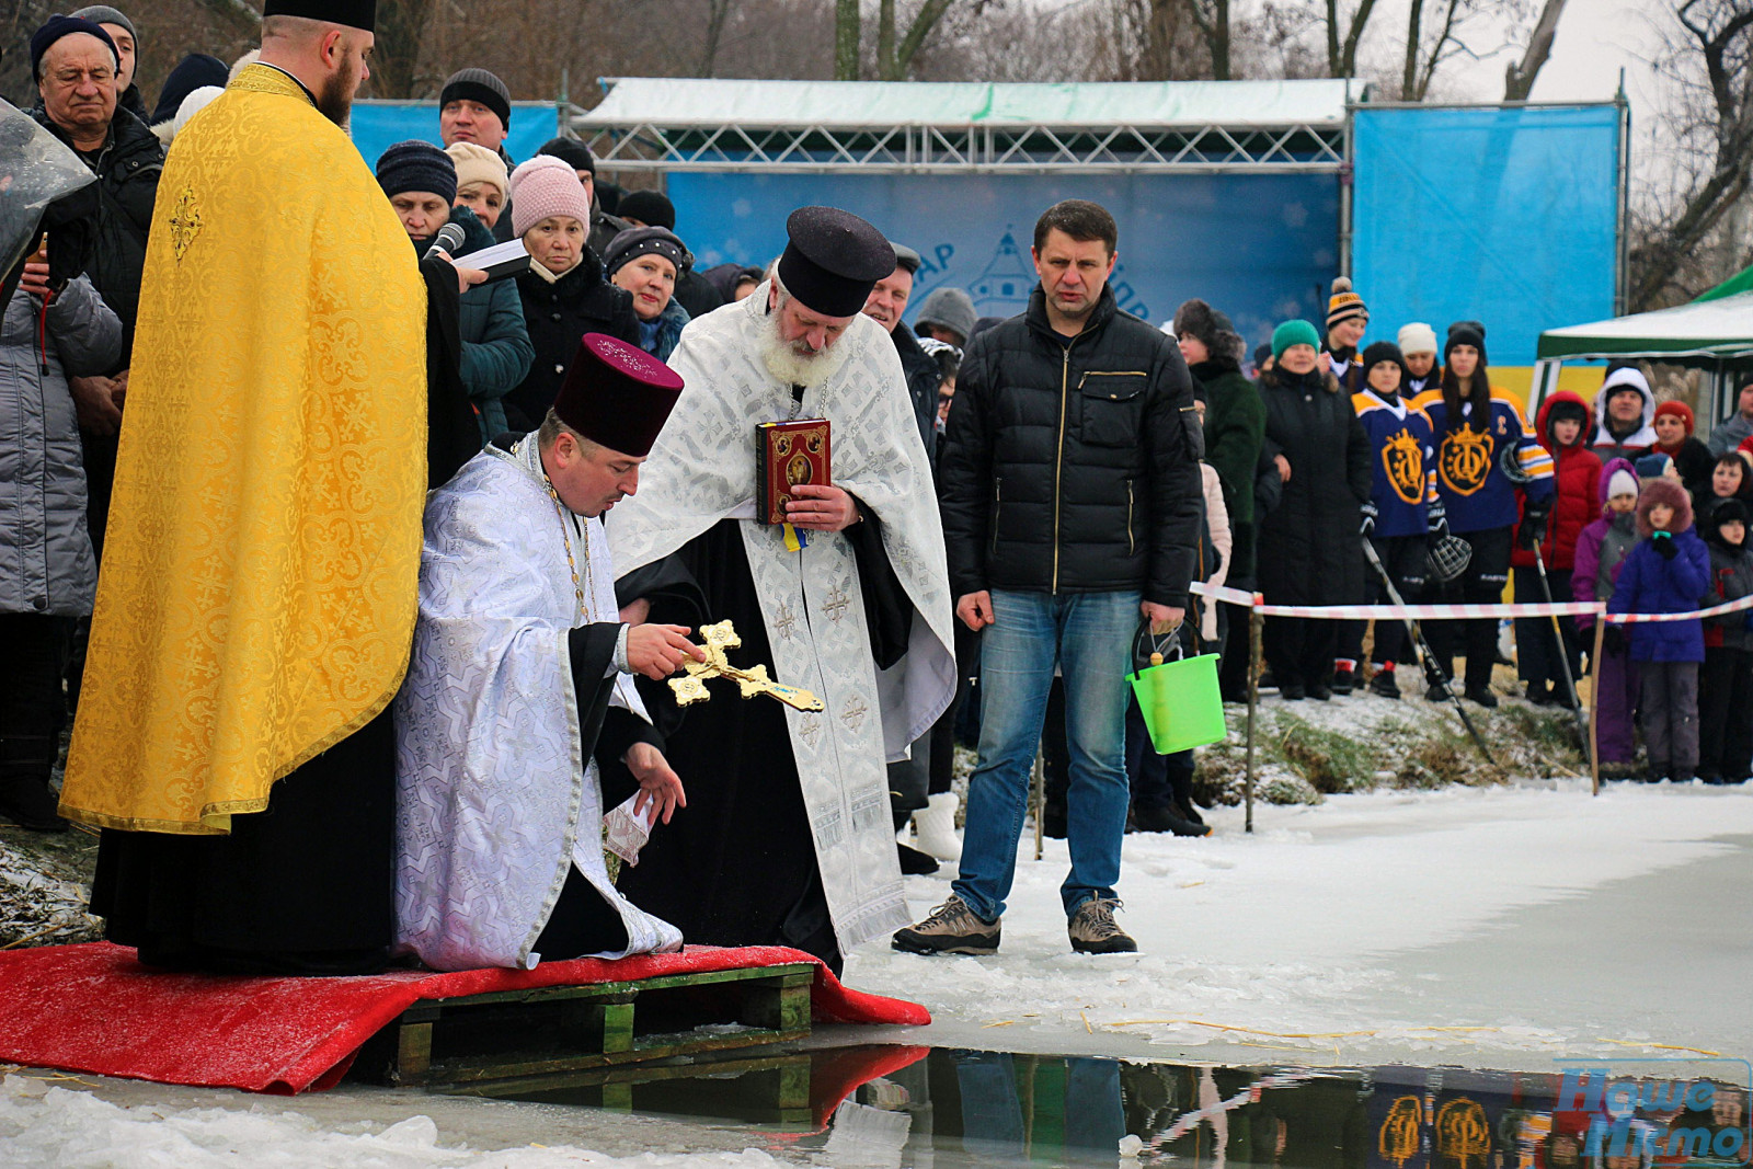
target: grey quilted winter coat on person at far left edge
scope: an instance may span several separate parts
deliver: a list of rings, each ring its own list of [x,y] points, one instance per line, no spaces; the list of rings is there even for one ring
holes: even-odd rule
[[[121,356],[121,317],[88,277],[39,314],[19,289],[0,324],[0,612],[91,612],[98,570],[86,531],[86,470],[67,379],[103,373]],[[44,373],[47,366],[47,373]]]

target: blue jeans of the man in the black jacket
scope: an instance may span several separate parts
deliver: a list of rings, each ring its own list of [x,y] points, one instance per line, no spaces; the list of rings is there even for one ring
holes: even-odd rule
[[[1041,741],[1054,664],[1066,680],[1071,787],[1066,917],[1090,897],[1113,897],[1125,834],[1125,680],[1138,633],[1136,592],[1003,592],[980,645],[980,766],[968,780],[955,896],[983,920],[1004,913],[1017,873],[1017,838],[1029,808],[1029,768]]]

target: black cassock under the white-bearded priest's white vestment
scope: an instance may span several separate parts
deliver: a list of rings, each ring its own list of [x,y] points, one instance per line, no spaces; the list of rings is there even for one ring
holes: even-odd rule
[[[659,624],[698,631],[729,619],[742,638],[729,652],[731,664],[771,666],[742,522],[749,521],[719,521],[673,556],[622,577],[615,592],[622,605],[650,599],[647,620]],[[875,517],[847,528],[845,536],[857,556],[871,652],[878,668],[889,668],[906,652],[912,601],[889,566]],[[712,699],[685,712],[666,684],[638,678],[638,687],[664,738],[664,757],[682,776],[687,808],[652,831],[638,866],[622,866],[621,892],[677,925],[689,943],[785,945],[838,973],[840,946],[785,708],[764,696],[743,699],[731,682],[708,682]]]

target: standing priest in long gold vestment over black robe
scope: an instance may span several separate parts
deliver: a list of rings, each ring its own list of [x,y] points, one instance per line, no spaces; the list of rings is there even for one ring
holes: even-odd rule
[[[372,9],[268,0],[158,189],[61,792],[103,829],[93,913],[149,966],[365,973],[394,932],[387,708],[426,489],[468,450],[429,456],[475,428],[456,272],[340,128]]]

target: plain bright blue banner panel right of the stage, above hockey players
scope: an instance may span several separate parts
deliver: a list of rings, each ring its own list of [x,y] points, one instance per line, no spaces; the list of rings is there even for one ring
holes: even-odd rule
[[[1353,284],[1369,337],[1481,321],[1490,365],[1613,315],[1620,110],[1359,109]]]

